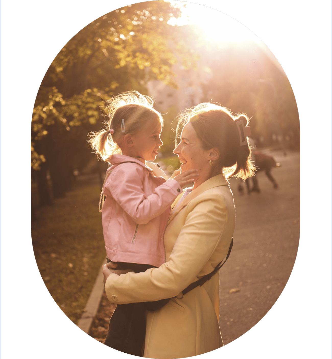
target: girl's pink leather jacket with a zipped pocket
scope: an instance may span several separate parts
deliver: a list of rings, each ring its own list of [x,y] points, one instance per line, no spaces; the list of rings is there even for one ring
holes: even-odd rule
[[[113,155],[107,170],[102,222],[107,257],[113,262],[156,267],[166,262],[164,232],[170,205],[182,189],[176,180],[166,181],[155,163],[148,164]]]

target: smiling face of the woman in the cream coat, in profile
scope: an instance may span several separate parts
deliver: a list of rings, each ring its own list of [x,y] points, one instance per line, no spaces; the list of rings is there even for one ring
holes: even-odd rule
[[[201,141],[198,139],[192,124],[188,122],[181,132],[181,142],[173,153],[177,154],[181,164],[181,173],[188,169],[198,169],[200,174],[210,173],[209,150],[201,147]],[[200,175],[200,178],[202,176]]]

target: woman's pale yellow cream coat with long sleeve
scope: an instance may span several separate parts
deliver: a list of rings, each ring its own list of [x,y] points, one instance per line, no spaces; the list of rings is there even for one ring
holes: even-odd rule
[[[142,273],[111,274],[105,285],[108,299],[123,304],[181,298],[184,288],[212,272],[226,256],[234,226],[233,195],[220,174],[193,190],[169,219],[164,236],[167,262]],[[182,299],[146,312],[144,357],[186,358],[220,348],[218,319],[216,274]]]

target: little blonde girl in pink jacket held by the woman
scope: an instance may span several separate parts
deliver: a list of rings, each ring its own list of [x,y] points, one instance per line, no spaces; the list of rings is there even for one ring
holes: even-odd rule
[[[143,272],[166,262],[163,236],[170,205],[198,174],[194,169],[167,180],[158,164],[146,162],[155,160],[163,144],[163,118],[151,98],[123,93],[107,110],[107,130],[90,139],[95,152],[112,164],[100,198],[107,258],[118,262],[118,269]],[[105,344],[141,356],[144,335],[142,303],[122,304],[112,315]]]

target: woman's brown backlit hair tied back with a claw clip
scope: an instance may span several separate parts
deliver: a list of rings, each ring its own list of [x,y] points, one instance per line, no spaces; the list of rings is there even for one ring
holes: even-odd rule
[[[249,122],[246,115],[233,115],[220,104],[200,103],[193,108],[185,109],[178,116],[176,137],[178,139],[181,127],[190,122],[201,141],[201,147],[204,150],[217,148],[219,151],[219,158],[213,161],[211,166],[210,178],[223,171],[226,177],[239,177],[245,180],[253,176],[254,165],[251,162],[251,148],[247,137],[247,143],[240,146],[240,135],[235,123],[240,120],[244,126]]]

